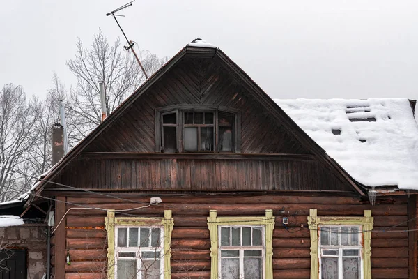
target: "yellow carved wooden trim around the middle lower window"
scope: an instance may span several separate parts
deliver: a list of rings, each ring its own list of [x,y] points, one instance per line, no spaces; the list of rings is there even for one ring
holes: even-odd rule
[[[210,279],[219,279],[219,226],[262,225],[264,226],[265,263],[264,279],[273,279],[273,230],[274,216],[272,209],[265,210],[265,216],[217,217],[217,211],[211,210],[208,217],[210,232]]]

